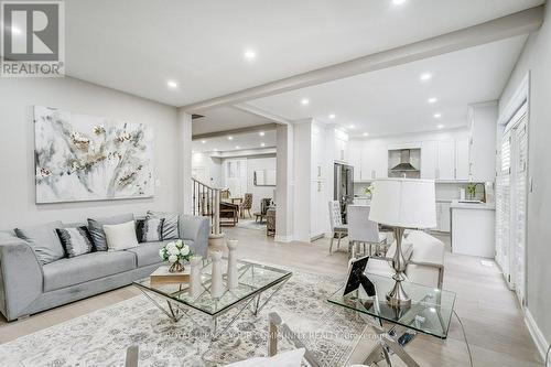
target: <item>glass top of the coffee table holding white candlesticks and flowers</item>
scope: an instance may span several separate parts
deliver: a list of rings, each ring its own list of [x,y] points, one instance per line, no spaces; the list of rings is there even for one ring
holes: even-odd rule
[[[222,261],[224,285],[226,287],[227,259]],[[188,267],[188,266],[186,266]],[[155,292],[171,301],[183,303],[190,307],[202,311],[209,315],[217,315],[227,311],[233,305],[250,299],[283,281],[291,278],[292,272],[283,269],[272,268],[248,261],[237,261],[239,284],[235,291],[226,291],[224,294],[214,299],[210,296],[210,274],[212,262],[203,266],[201,270],[201,282],[203,292],[197,298],[190,294],[188,283],[155,283],[150,278],[134,281],[133,284],[148,291]]]

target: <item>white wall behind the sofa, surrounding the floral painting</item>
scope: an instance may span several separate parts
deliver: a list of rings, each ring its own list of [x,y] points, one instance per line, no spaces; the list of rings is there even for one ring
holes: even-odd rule
[[[109,117],[153,127],[154,198],[36,205],[34,203],[33,105]],[[181,131],[173,107],[65,78],[2,78],[0,80],[0,228],[60,219],[77,222],[148,209],[177,211],[183,205],[179,182],[183,174],[177,149]],[[191,130],[191,129],[190,129]],[[191,144],[191,136],[190,136]]]

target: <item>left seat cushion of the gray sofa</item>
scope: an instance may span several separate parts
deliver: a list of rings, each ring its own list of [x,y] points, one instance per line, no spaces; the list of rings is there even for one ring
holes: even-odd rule
[[[132,269],[136,269],[136,257],[127,251],[91,252],[71,259],[61,259],[43,267],[44,292]]]

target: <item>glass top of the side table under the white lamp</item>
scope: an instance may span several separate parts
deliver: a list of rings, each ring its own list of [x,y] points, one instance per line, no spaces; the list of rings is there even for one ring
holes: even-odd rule
[[[454,292],[402,282],[406,293],[411,298],[411,305],[395,307],[388,304],[386,299],[387,292],[395,285],[395,280],[370,273],[366,276],[375,284],[375,296],[368,296],[361,287],[343,295],[343,285],[327,301],[424,334],[443,339],[447,337],[455,303]]]

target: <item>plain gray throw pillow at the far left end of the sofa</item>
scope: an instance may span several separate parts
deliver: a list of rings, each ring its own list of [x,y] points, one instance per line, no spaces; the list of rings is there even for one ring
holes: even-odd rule
[[[39,261],[45,265],[65,257],[65,250],[55,233],[55,228],[62,226],[63,224],[57,220],[40,226],[15,228],[15,235],[26,241]]]

